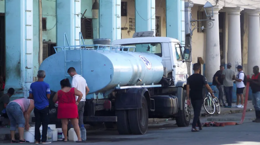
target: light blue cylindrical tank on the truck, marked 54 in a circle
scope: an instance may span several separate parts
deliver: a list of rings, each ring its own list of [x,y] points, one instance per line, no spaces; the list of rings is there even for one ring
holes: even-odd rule
[[[81,74],[81,63],[75,61],[80,60],[80,50],[66,50],[65,53],[66,60],[70,60],[66,62],[66,69],[64,51],[47,57],[39,68],[46,72],[44,81],[55,92],[61,89],[60,81],[68,75],[69,67],[74,67],[77,73],[86,79],[89,93],[115,89],[118,84],[120,86],[157,84],[163,76],[162,59],[154,54],[82,49]],[[72,78],[67,78],[71,82]]]

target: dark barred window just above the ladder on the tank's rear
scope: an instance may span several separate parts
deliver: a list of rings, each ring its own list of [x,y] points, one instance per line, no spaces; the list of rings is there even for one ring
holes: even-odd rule
[[[81,33],[83,39],[93,39],[92,19],[81,18]]]

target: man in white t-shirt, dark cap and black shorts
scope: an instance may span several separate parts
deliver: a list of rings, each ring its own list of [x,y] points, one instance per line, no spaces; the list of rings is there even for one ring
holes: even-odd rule
[[[244,92],[244,72],[243,72],[243,67],[241,65],[238,65],[237,67],[237,76],[235,78],[235,83],[237,86],[237,104],[234,105],[233,107],[238,107],[238,108],[244,108],[244,96],[243,96],[243,92]],[[239,99],[241,99],[241,104],[239,105]]]

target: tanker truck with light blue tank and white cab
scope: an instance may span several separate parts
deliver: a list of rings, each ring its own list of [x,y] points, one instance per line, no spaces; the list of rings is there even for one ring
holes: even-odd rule
[[[149,118],[175,118],[179,127],[189,126],[185,61],[191,61],[190,48],[177,39],[153,35],[153,31],[137,32],[111,45],[108,39],[98,39],[99,44],[69,46],[64,33],[64,46],[54,47],[56,53],[39,68],[46,71],[44,81],[51,89],[50,123],[60,124],[52,98],[62,79],[72,80],[67,70],[74,67],[90,90],[85,124],[104,123],[119,134],[145,134]]]

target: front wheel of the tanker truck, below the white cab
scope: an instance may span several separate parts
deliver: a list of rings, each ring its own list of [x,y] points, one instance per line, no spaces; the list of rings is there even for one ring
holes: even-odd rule
[[[179,110],[179,116],[175,118],[178,127],[187,127],[190,123],[190,106],[187,105],[186,90],[182,92],[182,110]]]

